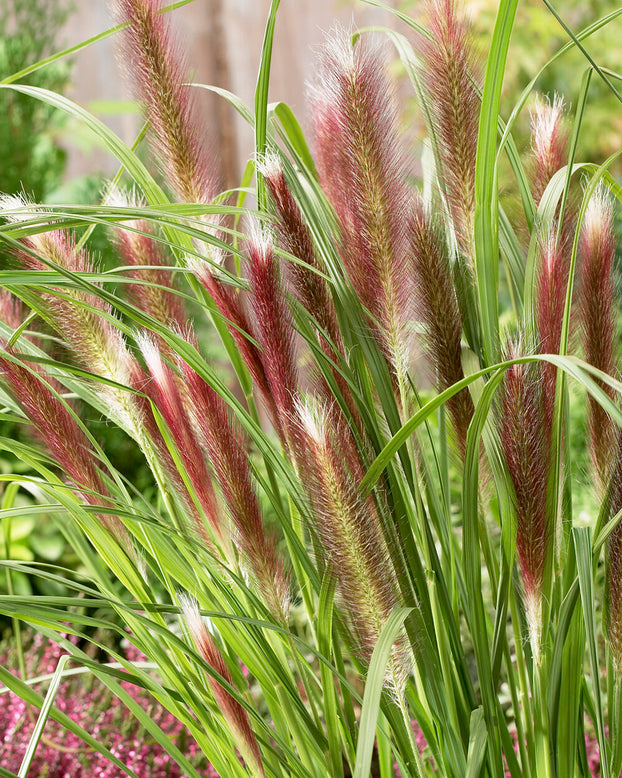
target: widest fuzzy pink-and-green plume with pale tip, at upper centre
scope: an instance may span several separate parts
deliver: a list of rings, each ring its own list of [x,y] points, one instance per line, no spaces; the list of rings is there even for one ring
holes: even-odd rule
[[[333,33],[312,92],[320,182],[339,220],[346,271],[398,378],[412,307],[404,213],[410,189],[382,53]]]

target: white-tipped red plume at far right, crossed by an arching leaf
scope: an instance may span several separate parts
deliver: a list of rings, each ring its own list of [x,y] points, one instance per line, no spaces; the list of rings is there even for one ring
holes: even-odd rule
[[[597,189],[585,212],[579,244],[579,318],[585,359],[603,373],[615,374],[617,351],[613,262],[616,239],[613,204],[606,190]],[[615,391],[602,381],[598,384],[609,397]],[[611,473],[616,449],[616,426],[607,412],[589,397],[588,426],[590,454],[601,493]]]

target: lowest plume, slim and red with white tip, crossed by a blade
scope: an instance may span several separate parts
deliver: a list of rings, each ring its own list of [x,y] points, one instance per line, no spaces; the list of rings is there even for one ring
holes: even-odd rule
[[[180,595],[179,604],[188,633],[197,652],[229,686],[233,687],[233,678],[229,668],[203,621],[196,600],[187,595]],[[207,680],[220,712],[231,728],[235,745],[250,774],[253,778],[265,778],[259,743],[251,727],[247,711],[214,676],[207,674]]]

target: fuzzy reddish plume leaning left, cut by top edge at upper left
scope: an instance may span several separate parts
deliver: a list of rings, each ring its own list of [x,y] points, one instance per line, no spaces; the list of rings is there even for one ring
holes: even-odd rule
[[[151,142],[170,185],[185,202],[208,203],[215,186],[196,118],[188,67],[159,0],[112,0],[124,32],[124,61],[151,122]]]

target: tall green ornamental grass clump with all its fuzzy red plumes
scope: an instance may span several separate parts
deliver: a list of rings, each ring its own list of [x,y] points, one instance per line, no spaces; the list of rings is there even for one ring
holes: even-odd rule
[[[212,175],[174,6],[111,3],[146,115],[131,149],[67,98],[0,83],[84,122],[119,163],[95,207],[0,200],[2,419],[23,427],[0,437],[16,657],[0,706],[17,695],[32,727],[0,775],[33,774],[53,719],[93,764],[142,778],[60,704],[78,674],[175,775],[618,776],[622,190],[617,154],[577,149],[592,84],[620,99],[588,52],[620,12],[555,55],[585,54],[573,94],[536,79],[516,105],[517,0],[486,59],[451,0],[397,14],[399,32],[335,29],[305,136],[267,99],[278,5],[254,109],[228,95],[254,133],[254,188]],[[426,128],[421,165],[387,40]],[[101,225],[110,256],[91,250]],[[23,493],[74,568],[11,558]],[[19,595],[18,573],[64,594]],[[26,628],[58,647],[47,686]]]

